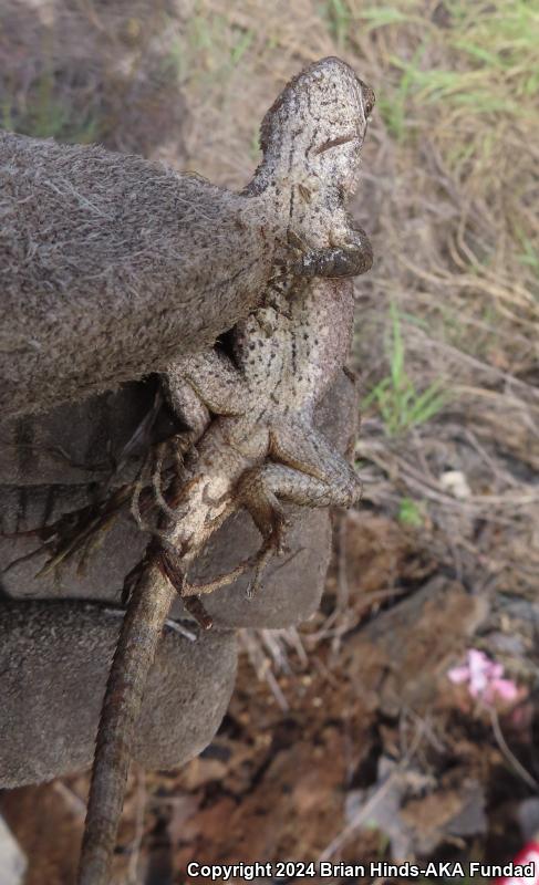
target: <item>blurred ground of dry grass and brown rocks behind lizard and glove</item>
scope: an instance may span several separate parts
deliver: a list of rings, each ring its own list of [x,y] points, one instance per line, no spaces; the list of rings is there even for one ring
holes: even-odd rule
[[[242,633],[213,745],[132,771],[118,883],[498,863],[539,831],[537,3],[2,0],[0,125],[239,189],[263,112],[330,54],[377,100],[351,207],[375,254],[350,361],[363,502],[334,514],[322,611]],[[86,787],[1,798],[29,885],[70,882]]]

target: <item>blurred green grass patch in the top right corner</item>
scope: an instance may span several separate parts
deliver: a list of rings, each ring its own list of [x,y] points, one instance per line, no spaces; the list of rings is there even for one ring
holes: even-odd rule
[[[475,160],[496,166],[500,134],[505,138],[515,124],[527,126],[536,119],[537,4],[495,0],[488,14],[477,14],[466,0],[446,0],[442,29],[415,0],[366,7],[348,0],[348,18],[339,12],[342,6],[341,0],[336,9],[326,3],[335,39],[344,30],[346,41],[361,48],[365,32],[385,32],[382,45],[391,49],[377,110],[396,140],[415,137],[421,119],[428,114],[436,121],[442,107],[445,125],[435,126],[435,134],[449,167],[460,170]],[[411,55],[402,51],[417,40],[421,44]]]

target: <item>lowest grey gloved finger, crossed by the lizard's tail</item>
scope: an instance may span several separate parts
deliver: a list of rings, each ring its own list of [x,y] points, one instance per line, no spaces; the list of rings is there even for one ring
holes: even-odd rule
[[[0,605],[0,785],[51,780],[92,763],[121,612],[74,602]],[[232,632],[195,642],[165,629],[137,725],[135,759],[175,768],[211,740],[236,676]]]

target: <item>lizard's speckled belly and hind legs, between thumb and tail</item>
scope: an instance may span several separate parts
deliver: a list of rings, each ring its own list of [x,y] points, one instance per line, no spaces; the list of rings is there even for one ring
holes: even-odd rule
[[[315,405],[345,362],[352,321],[349,280],[302,281],[292,296],[276,295],[272,306],[238,324],[234,362],[213,352],[178,366],[219,416],[200,440],[167,537],[167,546],[182,551],[184,572],[238,507],[277,549],[283,527],[278,499],[305,507],[357,500],[355,472],[312,426]],[[184,581],[182,594],[210,592],[226,579],[204,587]]]

